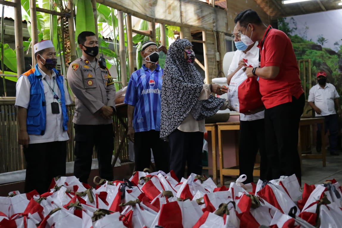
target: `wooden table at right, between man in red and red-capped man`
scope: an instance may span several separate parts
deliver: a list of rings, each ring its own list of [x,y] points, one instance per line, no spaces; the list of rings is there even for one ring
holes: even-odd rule
[[[305,125],[312,125],[312,124],[321,124],[321,142],[322,142],[322,149],[321,153],[317,155],[308,155],[308,154],[302,154],[302,147],[301,147],[301,140],[300,140],[300,127],[305,126]],[[303,158],[308,158],[308,159],[322,159],[323,167],[326,166],[326,150],[324,146],[324,137],[325,137],[325,132],[324,132],[324,118],[301,118],[299,122],[299,136],[298,136],[298,154],[300,157],[300,163],[302,166],[302,159]]]

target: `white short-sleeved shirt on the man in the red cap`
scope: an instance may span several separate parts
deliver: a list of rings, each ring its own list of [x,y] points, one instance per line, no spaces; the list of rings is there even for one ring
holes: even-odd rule
[[[315,103],[321,110],[320,114],[315,112],[315,116],[329,116],[336,114],[334,100],[339,97],[333,84],[326,83],[324,88],[317,84],[310,89],[307,101]]]

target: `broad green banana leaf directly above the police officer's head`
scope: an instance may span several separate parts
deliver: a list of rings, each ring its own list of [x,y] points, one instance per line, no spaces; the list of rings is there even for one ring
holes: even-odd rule
[[[76,34],[83,31],[95,32],[95,20],[91,0],[78,0],[76,9]]]

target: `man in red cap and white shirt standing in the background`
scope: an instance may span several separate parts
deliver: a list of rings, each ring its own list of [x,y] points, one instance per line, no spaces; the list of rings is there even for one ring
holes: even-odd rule
[[[318,84],[314,85],[309,91],[307,102],[315,110],[316,117],[324,117],[324,131],[329,129],[330,154],[339,155],[337,152],[338,143],[338,117],[335,105],[338,108],[338,114],[342,118],[342,110],[339,101],[339,94],[334,85],[327,83],[327,74],[320,71],[316,75]],[[317,126],[316,150],[321,151],[321,128]]]

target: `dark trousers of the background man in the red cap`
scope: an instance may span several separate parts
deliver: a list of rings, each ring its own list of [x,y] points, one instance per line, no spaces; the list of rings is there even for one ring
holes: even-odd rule
[[[336,152],[338,146],[338,133],[339,133],[339,122],[337,114],[324,116],[324,133],[329,130],[329,146],[330,152]],[[317,124],[317,140],[316,140],[316,150],[321,151],[322,148],[322,138],[321,138],[321,124]]]

